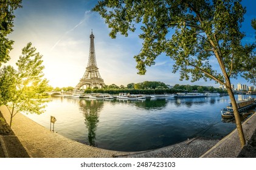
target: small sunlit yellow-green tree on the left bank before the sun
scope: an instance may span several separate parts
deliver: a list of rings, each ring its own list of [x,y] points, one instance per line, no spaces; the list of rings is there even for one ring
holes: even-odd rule
[[[31,42],[22,49],[22,55],[16,63],[18,70],[11,66],[1,69],[0,86],[2,101],[10,112],[10,126],[13,117],[19,112],[41,114],[44,103],[49,98],[44,95],[49,89],[48,81],[43,78],[43,56],[36,52]]]

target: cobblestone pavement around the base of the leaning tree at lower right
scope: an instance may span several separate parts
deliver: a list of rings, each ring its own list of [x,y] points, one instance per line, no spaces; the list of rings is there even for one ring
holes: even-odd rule
[[[244,137],[247,141],[250,140],[256,131],[256,114],[252,115],[243,123]],[[202,155],[202,158],[235,158],[241,152],[240,140],[237,129],[224,137],[212,149]]]

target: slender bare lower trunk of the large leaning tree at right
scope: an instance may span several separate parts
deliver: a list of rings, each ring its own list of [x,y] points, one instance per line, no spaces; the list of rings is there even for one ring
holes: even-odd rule
[[[231,88],[230,85],[231,85],[230,81],[227,81],[226,88],[227,88],[227,92],[229,94],[229,98],[231,100],[232,108],[233,108],[233,111],[234,111],[235,124],[237,125],[237,131],[238,131],[238,136],[239,136],[240,143],[241,143],[241,148],[243,148],[243,146],[245,145],[243,127],[242,127],[242,124],[241,124],[240,115],[239,115],[238,108],[237,108],[237,102],[235,101],[234,93],[233,93],[232,88]]]

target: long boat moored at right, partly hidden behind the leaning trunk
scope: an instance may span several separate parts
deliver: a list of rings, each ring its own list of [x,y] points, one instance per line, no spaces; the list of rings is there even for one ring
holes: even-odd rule
[[[237,109],[240,115],[245,115],[245,112],[248,112],[247,110],[251,107],[255,106],[255,99],[254,98],[248,98],[246,100],[240,100],[237,101]],[[230,102],[229,106],[227,106],[224,109],[221,109],[221,116],[224,118],[228,117],[234,117],[234,110],[232,107],[232,104]]]

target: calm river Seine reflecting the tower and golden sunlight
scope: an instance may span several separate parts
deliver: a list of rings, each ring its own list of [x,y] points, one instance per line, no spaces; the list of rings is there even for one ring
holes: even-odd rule
[[[236,95],[237,99],[249,97]],[[235,129],[221,120],[229,97],[88,100],[56,97],[46,112],[27,117],[80,143],[115,151],[156,149],[192,137],[221,138]]]

